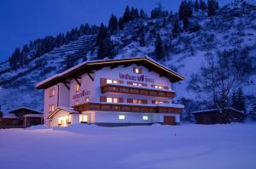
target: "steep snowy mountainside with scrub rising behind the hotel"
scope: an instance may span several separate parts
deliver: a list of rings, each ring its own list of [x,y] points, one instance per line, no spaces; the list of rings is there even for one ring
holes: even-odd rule
[[[195,100],[206,97],[188,90],[188,85],[190,77],[205,64],[207,53],[246,49],[248,57],[254,58],[253,65],[256,66],[256,7],[252,4],[230,3],[219,8],[218,13],[211,17],[202,11],[194,13],[189,18],[189,30],[180,31],[177,37],[173,37],[172,29],[177,19],[177,14],[170,14],[125,23],[123,31],[117,31],[111,36],[114,58],[149,56],[155,59],[154,42],[159,33],[166,51],[165,57],[158,61],[185,77],[183,82],[175,85],[177,100],[182,97]],[[183,30],[183,22],[179,21],[178,24]],[[96,59],[95,42],[96,35],[79,37],[76,41],[33,59],[18,70],[11,70],[9,62],[0,64],[0,100],[7,102],[3,105],[3,111],[21,105],[43,110],[43,91],[37,91],[34,85],[84,59]],[[243,86],[248,98],[255,99],[255,70],[252,70]]]

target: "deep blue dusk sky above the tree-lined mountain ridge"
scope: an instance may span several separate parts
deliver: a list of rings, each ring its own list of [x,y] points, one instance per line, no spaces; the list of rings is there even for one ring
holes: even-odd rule
[[[66,32],[83,23],[108,23],[109,16],[123,14],[125,5],[143,8],[149,14],[159,2],[177,11],[181,0],[2,0],[0,1],[0,61],[15,48],[38,37]],[[229,0],[218,1],[224,5]]]

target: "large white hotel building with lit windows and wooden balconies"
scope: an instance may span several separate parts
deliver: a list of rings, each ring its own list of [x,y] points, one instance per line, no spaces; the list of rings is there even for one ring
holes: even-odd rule
[[[44,124],[176,125],[172,83],[183,76],[149,58],[86,61],[37,84],[44,89]]]

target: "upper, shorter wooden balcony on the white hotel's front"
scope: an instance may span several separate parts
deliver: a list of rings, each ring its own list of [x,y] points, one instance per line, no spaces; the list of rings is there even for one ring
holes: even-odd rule
[[[154,89],[147,87],[137,86],[121,86],[117,84],[106,84],[102,86],[102,93],[127,93],[144,96],[162,97],[172,99],[174,98],[174,92],[167,91],[166,89]]]

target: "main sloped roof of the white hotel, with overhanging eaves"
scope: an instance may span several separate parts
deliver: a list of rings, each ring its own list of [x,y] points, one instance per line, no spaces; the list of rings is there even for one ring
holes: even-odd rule
[[[105,66],[118,66],[118,65],[143,65],[148,70],[154,70],[159,73],[161,76],[166,76],[172,82],[178,82],[183,80],[183,76],[177,74],[177,72],[168,69],[164,65],[160,65],[160,63],[154,61],[154,59],[150,59],[148,57],[140,57],[140,58],[126,58],[126,59],[102,59],[102,60],[90,60],[85,61],[79,65],[76,65],[68,70],[63,71],[62,73],[56,74],[54,76],[50,76],[42,82],[38,82],[36,88],[43,89],[47,87],[51,87],[59,82],[65,82],[68,79],[71,79],[76,76],[81,76],[86,72],[91,72],[93,70],[101,69]]]

